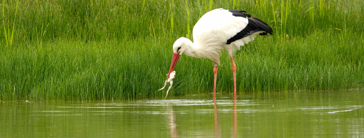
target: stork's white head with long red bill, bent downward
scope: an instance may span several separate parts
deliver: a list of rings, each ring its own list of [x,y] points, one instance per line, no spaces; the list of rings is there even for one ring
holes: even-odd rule
[[[169,68],[169,72],[167,74],[167,80],[169,78],[169,74],[171,72],[173,72],[174,67],[177,64],[178,58],[179,56],[181,56],[181,54],[187,49],[188,45],[191,43],[191,40],[185,38],[185,37],[181,37],[178,38],[174,44],[173,44],[173,57],[172,57],[172,62],[171,62],[171,66]]]

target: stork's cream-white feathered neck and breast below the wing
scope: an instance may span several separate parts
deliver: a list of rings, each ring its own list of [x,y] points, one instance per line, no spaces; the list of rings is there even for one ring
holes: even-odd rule
[[[199,45],[197,42],[193,43],[191,40],[186,39],[186,49],[183,53],[190,57],[196,58],[209,58],[215,62],[220,62],[221,48],[215,45]]]

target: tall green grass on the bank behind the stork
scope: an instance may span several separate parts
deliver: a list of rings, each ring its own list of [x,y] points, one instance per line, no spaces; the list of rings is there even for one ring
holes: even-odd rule
[[[361,0],[5,1],[0,100],[130,100],[163,97],[173,42],[192,38],[215,8],[242,9],[268,23],[236,52],[237,91],[364,88]],[[5,31],[6,32],[6,31]],[[223,52],[217,91],[232,92]],[[181,56],[170,96],[209,94],[213,62]]]

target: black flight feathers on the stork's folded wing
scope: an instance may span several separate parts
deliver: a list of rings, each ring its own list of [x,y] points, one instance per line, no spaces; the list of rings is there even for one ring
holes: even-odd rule
[[[273,35],[273,30],[272,30],[272,28],[269,27],[268,24],[264,23],[264,21],[259,20],[255,17],[251,17],[249,14],[246,14],[245,11],[229,10],[229,12],[232,12],[233,16],[247,18],[248,25],[246,25],[246,27],[242,31],[238,32],[235,36],[233,36],[229,40],[227,40],[226,44],[231,44],[232,42],[234,42],[236,40],[250,36],[253,33],[259,32],[259,31],[265,31],[265,32],[259,34],[261,36],[267,35],[267,33],[269,33],[270,35]]]

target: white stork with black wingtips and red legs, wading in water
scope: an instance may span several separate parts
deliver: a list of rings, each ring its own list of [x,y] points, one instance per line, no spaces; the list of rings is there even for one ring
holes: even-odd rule
[[[233,64],[234,99],[236,99],[236,64],[233,51],[253,41],[257,35],[273,35],[272,28],[263,21],[251,17],[245,11],[214,9],[205,13],[193,27],[193,41],[178,38],[173,44],[173,58],[169,74],[174,70],[182,53],[190,57],[209,58],[214,61],[214,95],[216,93],[217,64],[220,64],[221,50],[225,49]]]

